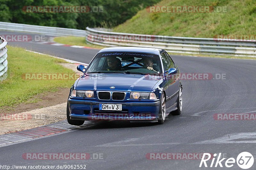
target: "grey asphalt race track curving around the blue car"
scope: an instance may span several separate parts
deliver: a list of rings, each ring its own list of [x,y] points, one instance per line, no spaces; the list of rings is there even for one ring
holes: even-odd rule
[[[0,32],[1,34],[26,34]],[[29,50],[89,63],[96,49],[58,47],[37,42],[9,42]],[[223,79],[182,80],[183,110],[163,125],[123,121],[98,122],[82,129],[0,147],[5,165],[86,165],[86,169],[211,169],[200,159],[152,160],[147,153],[240,152],[256,156],[255,120],[215,120],[220,113],[256,113],[256,60],[172,56],[181,73],[225,74]],[[113,84],[114,85],[114,84]],[[68,94],[67,94],[68,96]],[[26,160],[23,153],[103,153],[103,159]],[[223,161],[224,162],[224,161]],[[222,165],[225,167],[225,162]],[[208,166],[211,162],[208,161]],[[220,166],[215,169],[220,169]],[[240,169],[237,164],[232,168]],[[251,169],[256,169],[256,165]]]

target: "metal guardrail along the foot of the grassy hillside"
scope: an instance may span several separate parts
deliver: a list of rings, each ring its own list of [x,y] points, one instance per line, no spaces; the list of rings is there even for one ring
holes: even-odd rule
[[[163,48],[172,53],[256,57],[256,41],[230,41],[227,39],[218,41],[214,38],[116,33],[89,27],[86,27],[86,32],[86,41],[108,47],[153,47]]]

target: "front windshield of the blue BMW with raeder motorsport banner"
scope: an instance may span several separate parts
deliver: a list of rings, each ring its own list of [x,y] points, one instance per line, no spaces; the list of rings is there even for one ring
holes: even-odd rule
[[[99,53],[88,66],[86,73],[125,72],[126,74],[162,73],[158,55],[148,53]]]

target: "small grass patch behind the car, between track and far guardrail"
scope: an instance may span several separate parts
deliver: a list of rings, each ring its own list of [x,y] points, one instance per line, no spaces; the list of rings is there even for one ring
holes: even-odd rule
[[[87,43],[84,37],[74,37],[74,36],[55,37],[53,41],[61,44],[78,45],[78,46],[85,46],[85,47],[96,48],[96,49],[105,48],[104,46]]]

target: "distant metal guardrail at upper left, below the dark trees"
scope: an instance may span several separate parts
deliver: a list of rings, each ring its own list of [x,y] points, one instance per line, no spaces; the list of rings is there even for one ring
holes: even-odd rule
[[[86,36],[85,30],[59,28],[51,26],[36,26],[28,24],[17,24],[10,22],[0,22],[0,30],[25,32],[25,33],[38,33],[50,36]]]

